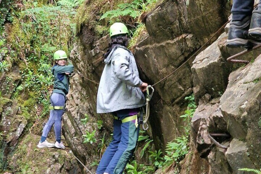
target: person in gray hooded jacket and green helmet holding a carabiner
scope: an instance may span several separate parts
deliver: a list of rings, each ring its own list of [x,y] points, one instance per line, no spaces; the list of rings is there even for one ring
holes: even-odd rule
[[[145,105],[147,83],[139,72],[130,50],[128,30],[123,23],[110,27],[111,42],[104,55],[97,95],[97,113],[112,113],[113,140],[104,152],[96,174],[121,174],[135,151],[139,136],[138,113]]]

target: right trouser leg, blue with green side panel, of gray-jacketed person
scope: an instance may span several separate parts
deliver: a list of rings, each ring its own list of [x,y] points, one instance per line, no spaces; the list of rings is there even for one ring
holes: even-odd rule
[[[131,156],[135,151],[138,136],[139,126],[136,127],[137,119],[122,123],[121,131],[122,137],[121,142],[118,146],[118,150],[115,152],[110,164],[105,170],[105,173],[110,174],[121,174],[126,167]]]

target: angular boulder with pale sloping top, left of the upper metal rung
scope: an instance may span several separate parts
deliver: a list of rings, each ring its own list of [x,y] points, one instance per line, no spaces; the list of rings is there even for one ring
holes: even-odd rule
[[[192,63],[194,95],[196,102],[205,94],[212,97],[220,97],[228,83],[229,66],[222,57],[218,43],[224,38],[225,33],[204,51],[202,51]]]

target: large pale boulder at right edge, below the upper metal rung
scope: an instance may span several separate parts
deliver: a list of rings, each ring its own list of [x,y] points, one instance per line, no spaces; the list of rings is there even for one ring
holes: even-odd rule
[[[260,62],[258,56],[252,64],[231,73],[227,90],[220,98],[228,132],[246,142],[248,156],[257,168],[261,165]]]

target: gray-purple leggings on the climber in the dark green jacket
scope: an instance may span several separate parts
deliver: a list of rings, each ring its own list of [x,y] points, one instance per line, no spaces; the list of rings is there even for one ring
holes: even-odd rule
[[[64,106],[65,97],[62,94],[53,93],[51,95],[50,101],[51,101],[51,106]],[[43,128],[42,136],[47,137],[54,124],[55,139],[56,141],[61,140],[62,115],[63,115],[63,109],[50,110],[50,117],[48,122]]]

